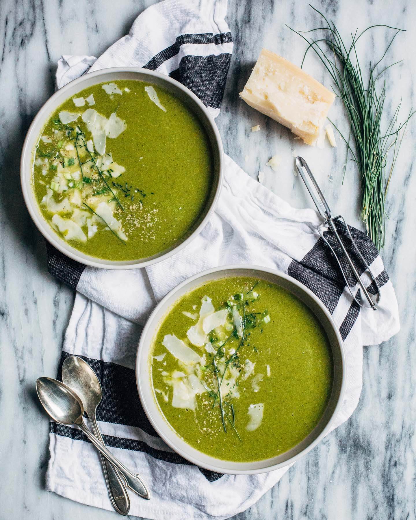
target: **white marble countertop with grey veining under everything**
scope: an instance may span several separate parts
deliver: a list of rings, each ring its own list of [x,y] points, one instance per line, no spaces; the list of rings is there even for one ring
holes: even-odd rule
[[[115,513],[87,508],[44,489],[48,459],[48,421],[37,405],[34,383],[57,370],[63,332],[74,294],[48,275],[45,242],[32,224],[20,196],[19,154],[28,126],[54,92],[56,61],[61,54],[98,56],[128,32],[149,0],[3,0],[0,9],[0,485],[2,518],[115,518]],[[397,36],[388,61],[404,59],[387,74],[387,109],[402,98],[405,116],[414,102],[416,74],[416,4],[396,0],[324,3],[347,37],[368,25],[388,23],[408,29]],[[228,23],[235,42],[223,108],[217,118],[225,151],[245,171],[266,174],[265,184],[296,207],[310,205],[293,174],[293,153],[302,153],[325,196],[350,224],[359,222],[359,178],[348,163],[342,184],[345,147],[307,148],[289,132],[246,106],[237,95],[261,48],[294,63],[305,49],[297,29],[317,27],[307,2],[230,0]],[[391,34],[391,33],[390,33]],[[387,42],[376,29],[359,48],[368,60]],[[322,67],[310,57],[306,70],[328,84]],[[333,116],[345,121],[340,103]],[[260,124],[261,132],[251,133]],[[403,141],[389,188],[386,246],[382,253],[393,280],[401,331],[380,346],[364,349],[363,388],[357,410],[318,447],[298,461],[261,500],[236,518],[414,518],[416,515],[416,345],[414,297],[416,274],[416,177],[413,144],[416,117]],[[265,163],[283,157],[278,173]]]

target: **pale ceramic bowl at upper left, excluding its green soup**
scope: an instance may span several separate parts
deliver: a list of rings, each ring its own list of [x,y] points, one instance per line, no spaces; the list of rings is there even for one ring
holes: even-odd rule
[[[112,262],[96,258],[95,256],[86,255],[73,248],[68,242],[60,238],[50,227],[43,217],[32,188],[32,161],[36,142],[42,132],[43,127],[50,118],[50,115],[66,101],[68,98],[79,93],[80,90],[97,83],[117,81],[117,80],[140,80],[154,85],[160,85],[166,90],[176,95],[184,101],[188,107],[197,115],[203,124],[207,135],[211,142],[211,148],[214,159],[214,182],[211,190],[210,198],[206,204],[205,210],[200,216],[196,225],[190,230],[189,235],[183,240],[176,243],[172,248],[162,251],[157,255],[142,258],[140,260]],[[90,72],[71,81],[67,85],[60,88],[53,96],[51,96],[35,116],[23,144],[23,150],[20,161],[20,180],[23,191],[23,198],[38,230],[56,249],[69,256],[70,258],[81,262],[85,265],[94,267],[102,267],[106,269],[134,269],[136,267],[145,267],[155,264],[169,256],[172,256],[180,249],[184,248],[191,240],[193,240],[207,223],[214,211],[215,204],[219,197],[219,192],[223,184],[223,145],[219,136],[216,124],[201,100],[194,95],[188,88],[181,83],[173,80],[164,74],[153,72],[146,69],[138,69],[134,67],[117,67],[112,69],[103,69],[96,72]]]

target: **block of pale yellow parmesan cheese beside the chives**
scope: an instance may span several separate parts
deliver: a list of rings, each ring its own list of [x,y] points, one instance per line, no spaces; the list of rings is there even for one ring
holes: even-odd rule
[[[263,49],[240,96],[315,146],[335,94],[288,60]]]

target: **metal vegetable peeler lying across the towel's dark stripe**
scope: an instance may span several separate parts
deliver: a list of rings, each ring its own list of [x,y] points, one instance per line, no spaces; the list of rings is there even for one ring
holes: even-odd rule
[[[367,264],[364,257],[362,256],[359,249],[357,248],[357,245],[356,245],[353,237],[351,236],[351,233],[349,232],[349,229],[344,220],[344,217],[341,215],[339,215],[337,217],[332,217],[331,210],[329,209],[328,203],[325,200],[323,193],[320,190],[314,176],[312,175],[312,172],[309,170],[309,166],[307,165],[305,159],[303,159],[302,157],[296,157],[296,167],[302,177],[302,180],[305,183],[307,190],[309,191],[310,196],[312,197],[312,200],[315,203],[315,206],[318,210],[319,215],[322,218],[324,218],[324,222],[318,226],[317,230],[319,232],[319,235],[322,237],[322,239],[326,242],[326,244],[331,249],[332,254],[334,255],[334,257],[336,259],[336,262],[341,269],[342,276],[344,277],[345,283],[348,287],[349,292],[351,293],[351,296],[354,298],[354,300],[358,303],[358,305],[360,307],[372,308],[372,309],[376,310],[378,307],[378,304],[380,302],[380,298],[381,298],[379,284],[378,284],[377,280],[375,279],[374,275],[372,274],[369,265]],[[305,172],[309,176],[309,179],[310,179],[311,183],[313,184],[315,191],[309,184],[309,181],[305,175]],[[320,200],[318,199],[317,195]],[[345,230],[347,231],[348,237],[350,240],[350,245],[344,244],[343,241],[341,240],[338,229],[336,227],[336,221],[341,221],[343,223],[343,225],[345,226]],[[333,234],[333,237],[336,239],[337,243],[340,246],[341,254],[335,252],[333,246],[329,243],[327,237],[324,235],[324,232],[330,232]],[[375,290],[374,294],[371,294],[368,291],[365,283],[361,280],[361,276],[360,276],[359,272],[357,271],[357,268],[354,265],[354,262],[350,256],[350,254],[347,252],[347,249],[346,249],[347,247],[349,247],[350,251],[354,252],[354,254],[356,256],[356,262],[362,263],[361,268],[362,267],[365,268],[365,269],[363,269],[361,276],[366,275],[368,277],[369,282],[370,282],[370,283],[368,283],[368,285],[372,285],[372,287],[374,287],[374,290]],[[348,266],[352,272],[348,272],[348,270],[347,270]],[[365,296],[364,302],[362,301],[359,290],[356,292],[356,294],[354,294],[354,288],[355,288],[356,284],[355,283],[351,284],[348,282],[348,278],[351,278],[351,275],[353,275],[353,277],[356,279],[362,293]],[[368,303],[368,305],[367,305],[367,303]]]

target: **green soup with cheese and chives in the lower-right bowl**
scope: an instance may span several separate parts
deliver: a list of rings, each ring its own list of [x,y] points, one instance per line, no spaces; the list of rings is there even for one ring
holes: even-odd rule
[[[256,278],[215,280],[180,298],[149,362],[166,421],[194,448],[235,462],[300,443],[332,389],[321,324],[290,292]]]

